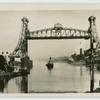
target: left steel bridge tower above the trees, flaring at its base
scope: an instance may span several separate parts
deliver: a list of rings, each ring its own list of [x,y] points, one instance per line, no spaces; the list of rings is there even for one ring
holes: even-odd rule
[[[28,41],[26,35],[29,34],[28,30],[29,20],[26,17],[22,18],[22,30],[18,40],[18,44],[14,51],[9,55],[10,58],[22,57],[28,55]]]

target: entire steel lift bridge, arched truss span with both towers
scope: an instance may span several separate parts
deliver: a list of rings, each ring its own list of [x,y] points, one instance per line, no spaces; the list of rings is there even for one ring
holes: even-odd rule
[[[97,48],[100,46],[100,42],[96,32],[96,25],[95,25],[95,17],[90,16],[89,21],[89,28],[87,30],[75,29],[75,28],[67,28],[63,27],[60,23],[54,25],[51,28],[44,28],[40,30],[30,31],[28,28],[29,20],[24,17],[22,18],[22,31],[19,37],[18,44],[14,51],[9,54],[9,58],[11,63],[14,62],[15,58],[20,58],[21,62],[23,62],[24,66],[28,68],[30,62],[30,58],[28,56],[28,40],[53,40],[53,39],[90,39],[90,64],[91,64],[91,75],[90,75],[90,91],[93,92],[94,89],[94,43],[97,44]],[[96,49],[97,49],[96,48]],[[23,58],[27,58],[22,60]],[[24,67],[23,67],[24,68]],[[21,75],[21,74],[20,74]],[[17,76],[16,76],[17,77]]]

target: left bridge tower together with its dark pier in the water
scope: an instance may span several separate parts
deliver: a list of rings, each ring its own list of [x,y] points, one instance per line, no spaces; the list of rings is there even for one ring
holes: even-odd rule
[[[21,21],[22,21],[22,30],[20,33],[19,41],[16,48],[9,55],[9,57],[11,59],[10,60],[11,64],[13,64],[13,62],[15,61],[15,58],[20,58],[21,59],[20,67],[21,68],[27,67],[27,70],[29,71],[30,69],[28,68],[27,65],[29,65],[28,62],[30,62],[30,59],[28,59],[28,40],[26,39],[26,35],[29,34],[29,30],[28,30],[29,20],[26,17],[23,17]],[[28,92],[28,74],[22,75],[20,82],[21,82],[21,91],[23,93],[27,93]]]

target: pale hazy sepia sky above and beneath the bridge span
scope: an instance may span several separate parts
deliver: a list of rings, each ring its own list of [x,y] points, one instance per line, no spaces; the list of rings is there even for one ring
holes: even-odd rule
[[[21,32],[21,18],[29,19],[29,30],[44,29],[61,23],[63,27],[88,30],[89,16],[96,17],[96,28],[100,37],[99,10],[34,10],[34,11],[0,11],[0,52],[12,52],[17,46]],[[81,44],[81,45],[80,45]],[[33,56],[65,56],[79,52],[79,48],[87,49],[89,41],[84,40],[30,40],[29,55]]]

